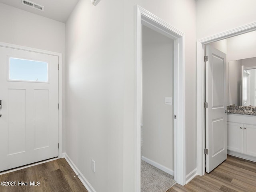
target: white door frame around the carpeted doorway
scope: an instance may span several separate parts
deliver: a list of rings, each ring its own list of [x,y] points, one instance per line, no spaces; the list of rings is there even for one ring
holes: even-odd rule
[[[140,192],[141,24],[174,40],[174,179],[186,182],[185,170],[185,34],[136,6],[136,192]],[[173,117],[170,117],[173,118]]]

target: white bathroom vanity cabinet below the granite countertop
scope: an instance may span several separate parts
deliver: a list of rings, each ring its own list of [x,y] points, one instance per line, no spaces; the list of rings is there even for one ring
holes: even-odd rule
[[[256,157],[256,117],[245,115],[227,116],[227,149]]]

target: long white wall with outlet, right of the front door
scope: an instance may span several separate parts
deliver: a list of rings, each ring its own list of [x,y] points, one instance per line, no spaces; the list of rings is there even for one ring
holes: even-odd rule
[[[122,7],[80,0],[66,22],[66,153],[97,192],[123,187]]]

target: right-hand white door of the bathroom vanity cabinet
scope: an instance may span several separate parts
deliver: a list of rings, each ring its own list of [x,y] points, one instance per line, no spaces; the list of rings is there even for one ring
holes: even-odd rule
[[[244,124],[244,154],[256,156],[256,126]]]

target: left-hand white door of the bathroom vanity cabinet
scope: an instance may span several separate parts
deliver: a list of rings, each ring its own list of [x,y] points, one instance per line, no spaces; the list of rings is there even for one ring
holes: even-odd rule
[[[243,124],[227,122],[227,149],[243,152]]]

